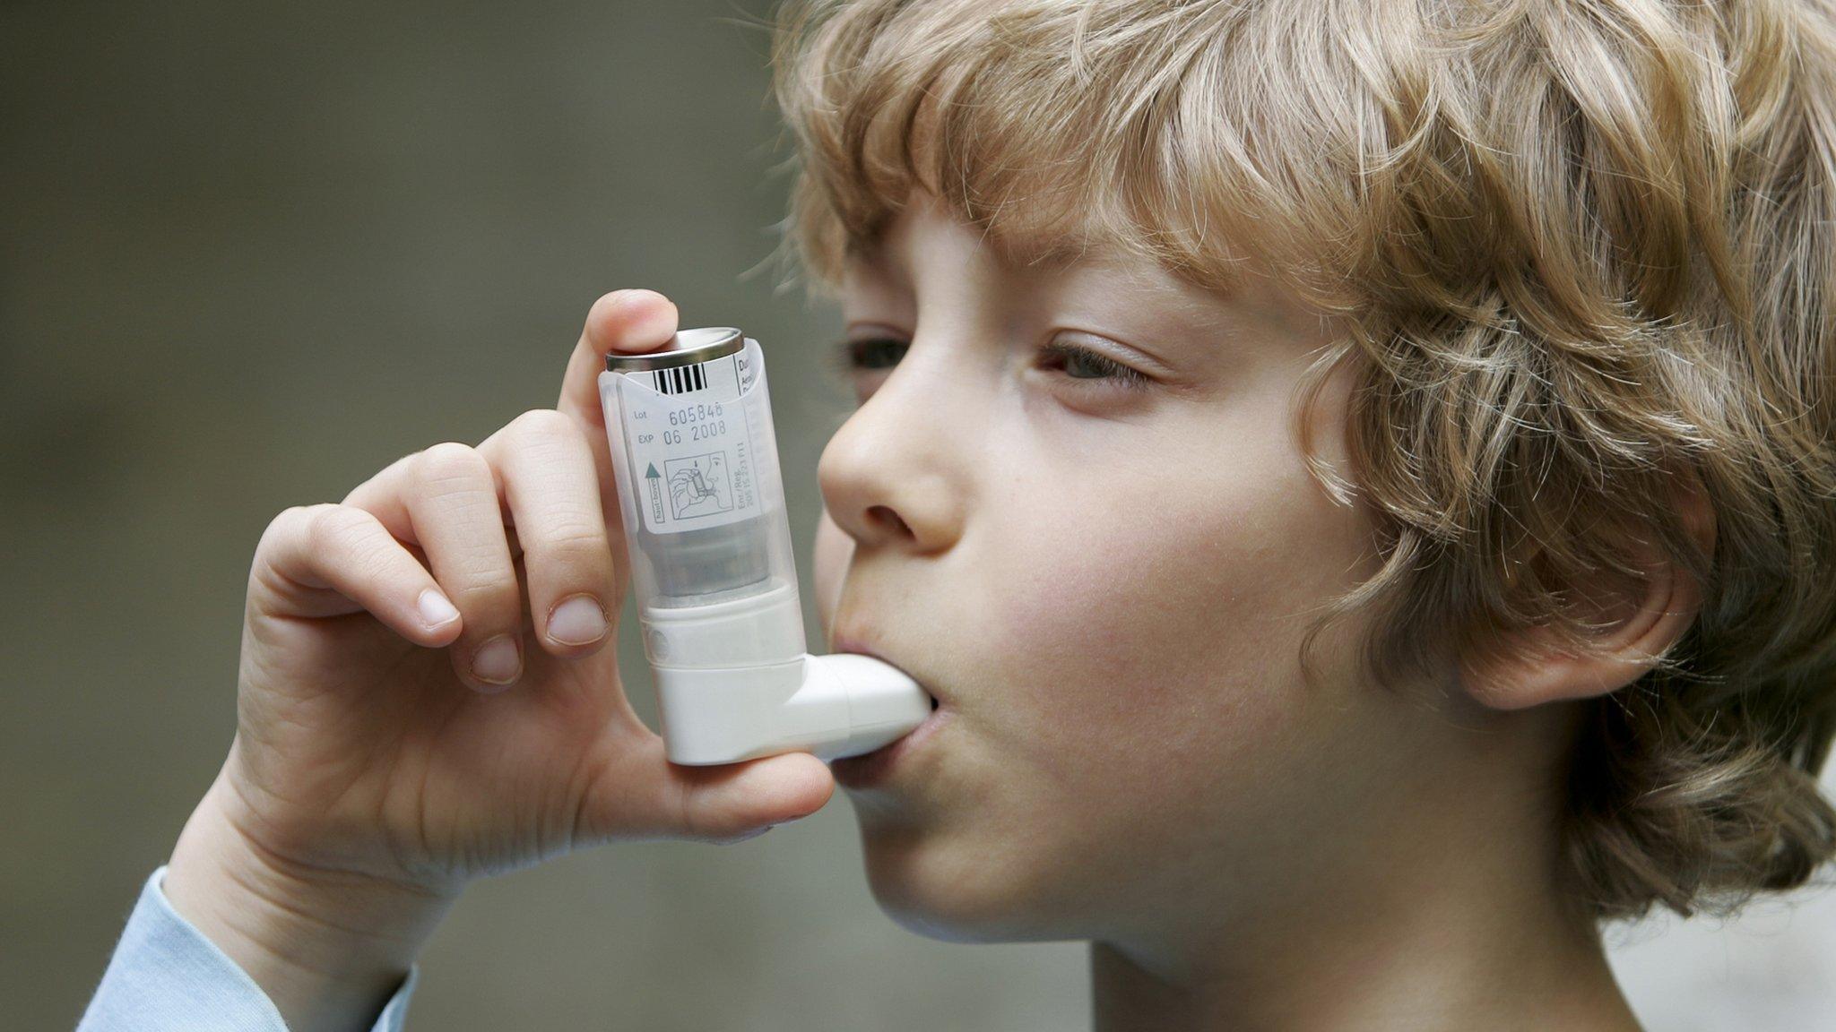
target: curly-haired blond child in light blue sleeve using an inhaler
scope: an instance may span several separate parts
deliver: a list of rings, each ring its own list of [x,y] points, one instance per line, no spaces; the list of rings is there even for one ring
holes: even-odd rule
[[[610,294],[554,411],[274,522],[90,1028],[211,1026],[171,970],[395,1026],[472,878],[832,777],[889,914],[1091,940],[1102,1030],[1636,1028],[1601,920],[1836,852],[1827,4],[813,2],[775,59],[861,397],[824,630],[936,716],[665,762],[593,378],[677,316]]]

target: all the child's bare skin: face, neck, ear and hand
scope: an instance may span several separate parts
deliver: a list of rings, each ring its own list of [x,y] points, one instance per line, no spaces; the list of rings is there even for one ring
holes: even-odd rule
[[[848,790],[894,920],[1091,940],[1103,1032],[1636,1028],[1564,903],[1555,771],[1568,700],[1682,634],[1685,584],[1652,578],[1605,659],[1529,648],[1394,692],[1351,661],[1353,619],[1309,681],[1302,635],[1373,562],[1293,433],[1327,321],[1114,257],[1006,266],[922,195],[843,299],[850,340],[894,343],[819,465],[819,611],[942,701],[889,779]],[[371,1021],[472,878],[733,841],[832,795],[800,753],[670,766],[606,648],[626,569],[593,382],[674,329],[661,296],[608,294],[556,409],[263,538],[237,740],[165,892],[290,1028]],[[1318,408],[1327,457],[1342,398]],[[428,619],[430,591],[457,615]],[[575,597],[602,619],[554,615]],[[492,683],[499,635],[521,648]]]

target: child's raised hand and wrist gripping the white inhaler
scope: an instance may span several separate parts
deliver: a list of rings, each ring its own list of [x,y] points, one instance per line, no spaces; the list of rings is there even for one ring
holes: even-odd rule
[[[659,294],[608,294],[556,409],[263,536],[235,742],[165,891],[296,1032],[373,1019],[472,878],[613,839],[734,841],[832,795],[806,753],[672,766],[624,698],[597,375],[674,331]]]

